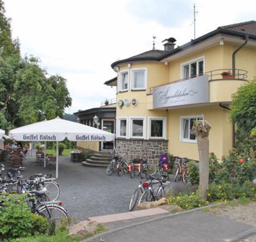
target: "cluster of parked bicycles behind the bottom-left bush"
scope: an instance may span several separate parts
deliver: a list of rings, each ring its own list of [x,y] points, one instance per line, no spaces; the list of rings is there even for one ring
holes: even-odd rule
[[[33,213],[42,215],[48,220],[55,220],[60,224],[61,218],[67,218],[67,210],[58,201],[60,187],[50,174],[34,174],[28,179],[23,179],[21,172],[24,167],[8,169],[7,177],[4,176],[5,166],[0,168],[0,195],[25,194],[27,204]],[[15,174],[17,173],[17,176]],[[0,200],[0,206],[3,206]]]

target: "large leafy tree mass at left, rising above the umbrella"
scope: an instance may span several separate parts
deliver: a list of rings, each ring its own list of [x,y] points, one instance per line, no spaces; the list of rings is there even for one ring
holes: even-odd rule
[[[63,117],[71,105],[65,79],[48,77],[39,58],[20,56],[11,39],[10,20],[0,0],[0,127],[8,130],[31,122]]]

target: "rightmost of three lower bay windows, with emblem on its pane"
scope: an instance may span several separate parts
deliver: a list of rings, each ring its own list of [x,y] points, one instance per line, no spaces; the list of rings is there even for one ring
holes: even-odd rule
[[[148,134],[149,139],[166,139],[166,118],[149,117]]]

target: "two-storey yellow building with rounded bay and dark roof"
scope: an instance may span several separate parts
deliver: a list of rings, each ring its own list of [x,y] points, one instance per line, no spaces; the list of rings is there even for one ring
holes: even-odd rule
[[[218,27],[174,48],[151,50],[111,64],[117,78],[116,147],[150,162],[169,152],[198,160],[194,120],[211,124],[210,152],[228,155],[232,93],[256,76],[256,22]],[[130,157],[132,158],[132,157]]]

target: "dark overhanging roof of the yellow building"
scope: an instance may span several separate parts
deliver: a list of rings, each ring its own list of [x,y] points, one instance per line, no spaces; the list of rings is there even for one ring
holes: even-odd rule
[[[111,64],[111,67],[114,68],[115,65],[132,62],[132,61],[161,61],[168,56],[174,55],[177,52],[183,51],[184,49],[191,48],[191,46],[196,43],[202,42],[203,40],[209,39],[210,37],[217,36],[217,34],[229,34],[230,36],[239,36],[245,38],[246,35],[250,39],[256,39],[256,21],[247,21],[243,23],[230,24],[226,26],[218,27],[216,30],[204,34],[191,42],[185,43],[185,45],[179,46],[172,51],[146,51],[142,54],[132,56],[127,59],[122,59],[120,61],[115,61]]]

